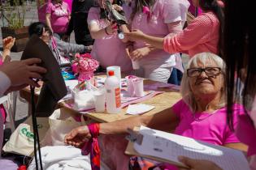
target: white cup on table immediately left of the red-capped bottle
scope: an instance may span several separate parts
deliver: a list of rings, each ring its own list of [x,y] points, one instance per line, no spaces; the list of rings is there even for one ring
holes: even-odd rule
[[[98,91],[94,91],[94,104],[96,113],[104,113],[105,112],[105,89],[98,89]]]

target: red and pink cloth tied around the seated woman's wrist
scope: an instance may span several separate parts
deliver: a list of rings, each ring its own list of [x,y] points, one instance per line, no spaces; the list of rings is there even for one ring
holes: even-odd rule
[[[98,146],[98,134],[100,130],[99,123],[92,123],[88,125],[89,134],[92,135],[92,138],[88,142],[85,142],[85,145],[82,147],[82,155],[90,154],[91,168],[92,170],[101,169],[101,151]]]

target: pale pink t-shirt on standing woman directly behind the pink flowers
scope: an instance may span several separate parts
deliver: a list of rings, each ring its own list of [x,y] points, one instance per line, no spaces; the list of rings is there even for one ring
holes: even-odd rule
[[[98,24],[100,29],[106,28],[106,19],[100,19],[100,8],[91,7],[88,14],[88,25]],[[120,66],[121,71],[132,70],[132,62],[125,53],[126,45],[119,40],[117,34],[106,35],[102,39],[95,39],[91,55],[100,62],[103,68],[107,66]]]

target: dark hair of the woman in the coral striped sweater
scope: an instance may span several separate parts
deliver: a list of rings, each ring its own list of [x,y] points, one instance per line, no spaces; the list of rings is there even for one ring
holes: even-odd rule
[[[222,0],[223,1],[223,0]],[[224,16],[223,9],[218,5],[217,0],[199,0],[199,6],[203,11],[212,11],[219,19],[219,56],[223,55],[223,28],[224,28]]]

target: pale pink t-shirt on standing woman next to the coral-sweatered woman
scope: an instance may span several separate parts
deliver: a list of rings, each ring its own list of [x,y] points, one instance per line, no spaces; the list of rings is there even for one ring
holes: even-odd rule
[[[132,3],[132,6],[124,6],[124,12],[128,20],[130,20],[133,6],[134,3]],[[139,29],[147,35],[164,37],[171,33],[168,30],[167,23],[184,22],[188,8],[189,2],[187,0],[156,0],[152,8],[151,17],[148,14],[137,12],[130,24],[132,29]],[[142,47],[145,47],[145,42],[140,40],[135,42],[134,49]],[[170,53],[165,52],[163,49],[156,49],[146,57],[143,57],[140,62],[142,63],[141,65],[161,66],[165,64],[166,66],[172,66],[173,61],[170,61],[170,59]]]

